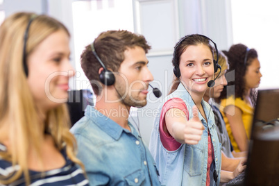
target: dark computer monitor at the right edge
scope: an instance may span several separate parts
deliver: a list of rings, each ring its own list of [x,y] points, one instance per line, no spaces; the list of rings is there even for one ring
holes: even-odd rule
[[[279,89],[257,92],[244,185],[279,185]]]

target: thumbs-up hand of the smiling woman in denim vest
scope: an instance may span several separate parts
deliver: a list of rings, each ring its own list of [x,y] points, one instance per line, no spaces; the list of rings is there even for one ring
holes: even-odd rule
[[[193,117],[186,122],[184,128],[184,140],[186,144],[198,144],[205,129],[201,120],[198,118],[198,108],[193,106]]]

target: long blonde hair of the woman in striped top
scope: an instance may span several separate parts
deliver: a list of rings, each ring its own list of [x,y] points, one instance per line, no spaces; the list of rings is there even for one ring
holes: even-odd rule
[[[40,144],[44,136],[33,96],[28,88],[23,67],[23,46],[26,26],[33,13],[18,12],[8,17],[0,26],[0,128],[8,126],[8,131],[0,130],[0,136],[6,135],[8,151],[0,152],[1,158],[19,165],[19,170],[7,178],[0,178],[0,183],[9,184],[24,174],[26,183],[30,183],[28,174],[28,152],[31,148],[39,160],[42,160]],[[33,19],[28,31],[26,56],[51,33],[65,31],[67,28],[56,19],[47,15],[38,15]],[[66,145],[67,156],[81,167],[83,164],[76,158],[76,140],[69,132],[69,114],[67,105],[62,103],[47,112],[44,121],[45,131],[51,134],[57,148]],[[3,139],[0,139],[3,140]],[[38,162],[42,165],[42,161]]]

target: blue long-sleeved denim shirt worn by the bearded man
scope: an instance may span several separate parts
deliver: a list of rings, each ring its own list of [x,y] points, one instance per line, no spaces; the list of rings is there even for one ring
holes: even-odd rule
[[[160,185],[149,149],[128,125],[131,131],[88,105],[85,116],[71,128],[90,185]]]

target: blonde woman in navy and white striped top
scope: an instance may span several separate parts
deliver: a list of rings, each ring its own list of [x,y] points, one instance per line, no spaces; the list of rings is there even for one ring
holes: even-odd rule
[[[88,185],[64,103],[69,55],[56,19],[18,12],[1,24],[0,185]]]

